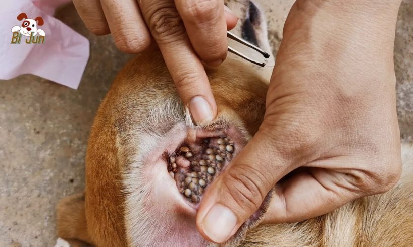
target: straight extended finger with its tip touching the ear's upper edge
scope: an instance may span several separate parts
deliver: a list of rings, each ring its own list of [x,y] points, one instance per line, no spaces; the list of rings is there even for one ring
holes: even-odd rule
[[[217,106],[207,73],[192,48],[175,4],[157,0],[142,1],[140,5],[193,121],[198,125],[212,121],[217,114]]]

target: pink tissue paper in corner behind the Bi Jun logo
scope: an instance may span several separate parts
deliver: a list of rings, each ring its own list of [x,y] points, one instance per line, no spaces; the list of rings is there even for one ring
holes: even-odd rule
[[[33,74],[78,88],[89,59],[89,41],[52,16],[67,2],[0,2],[0,79]]]

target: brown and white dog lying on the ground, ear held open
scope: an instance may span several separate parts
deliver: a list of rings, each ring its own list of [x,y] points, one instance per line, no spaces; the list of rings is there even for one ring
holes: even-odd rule
[[[248,8],[242,36],[269,47],[259,9]],[[251,20],[251,12],[260,17]],[[59,237],[72,246],[215,246],[197,232],[198,203],[180,193],[182,177],[171,177],[168,163],[183,144],[198,148],[195,157],[218,137],[232,140],[236,155],[263,119],[267,72],[234,57],[207,68],[219,113],[210,125],[193,126],[161,54],[130,61],[94,120],[85,193],[57,207]],[[401,151],[403,173],[391,191],[299,223],[260,225],[264,204],[221,246],[413,246],[413,147]],[[187,171],[183,163],[178,168]]]

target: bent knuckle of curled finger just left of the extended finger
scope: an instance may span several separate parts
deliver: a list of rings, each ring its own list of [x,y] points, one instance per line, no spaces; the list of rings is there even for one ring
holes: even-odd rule
[[[136,32],[116,32],[113,33],[116,46],[123,52],[139,53],[145,50],[150,43],[146,35],[137,35]]]

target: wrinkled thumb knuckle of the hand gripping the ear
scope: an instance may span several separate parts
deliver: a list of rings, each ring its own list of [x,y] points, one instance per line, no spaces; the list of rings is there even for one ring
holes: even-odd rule
[[[264,176],[248,165],[237,164],[236,167],[237,169],[228,169],[224,186],[239,210],[252,213],[261,206],[266,196],[262,191]]]

